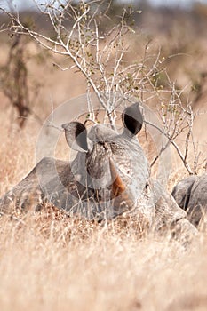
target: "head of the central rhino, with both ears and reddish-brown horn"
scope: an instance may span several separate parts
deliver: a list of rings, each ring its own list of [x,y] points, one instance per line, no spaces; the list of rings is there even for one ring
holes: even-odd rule
[[[62,125],[69,147],[77,151],[70,163],[73,178],[90,189],[93,216],[115,218],[139,208],[152,218],[147,158],[136,137],[143,124],[138,103],[125,108],[122,121],[122,133],[103,124],[89,130],[79,122]]]

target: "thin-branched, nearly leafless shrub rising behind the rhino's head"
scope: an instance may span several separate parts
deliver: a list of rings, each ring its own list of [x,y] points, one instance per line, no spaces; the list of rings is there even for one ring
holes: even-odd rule
[[[185,90],[179,90],[171,82],[161,52],[149,54],[150,41],[147,42],[143,55],[138,55],[137,60],[126,60],[129,52],[126,38],[129,35],[136,36],[133,18],[139,12],[134,12],[131,6],[123,7],[122,14],[116,16],[114,22],[109,14],[111,1],[103,0],[77,3],[56,0],[39,5],[38,9],[51,23],[51,36],[45,34],[44,30],[35,31],[25,26],[19,14],[6,12],[12,21],[12,33],[27,35],[46,50],[66,58],[66,67],[63,68],[60,63],[54,64],[61,70],[76,68],[81,72],[86,81],[86,91],[96,93],[105,109],[105,120],[108,119],[114,129],[115,109],[121,100],[131,101],[133,98],[144,103],[154,101],[163,124],[163,129],[158,130],[167,138],[167,143],[158,150],[151,166],[172,144],[188,173],[195,173],[196,153],[193,167],[187,158],[189,144],[193,144],[194,148],[192,129],[195,114],[189,101],[185,104],[182,102],[181,96]],[[90,96],[88,99],[89,119],[96,121]],[[27,114],[26,110],[24,113]],[[175,140],[183,132],[186,132],[186,140],[184,151],[181,151]]]

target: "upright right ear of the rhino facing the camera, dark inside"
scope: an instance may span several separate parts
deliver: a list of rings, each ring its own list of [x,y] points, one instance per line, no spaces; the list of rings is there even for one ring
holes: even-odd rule
[[[130,107],[125,108],[122,119],[125,128],[127,128],[133,135],[137,135],[143,124],[143,116],[139,109],[139,103],[137,102]]]

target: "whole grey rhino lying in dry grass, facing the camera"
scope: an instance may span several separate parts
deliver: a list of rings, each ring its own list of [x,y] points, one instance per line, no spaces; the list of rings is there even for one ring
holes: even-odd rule
[[[0,211],[10,208],[38,211],[44,202],[86,219],[115,219],[131,215],[155,229],[171,228],[173,235],[194,235],[172,196],[150,179],[147,158],[136,134],[142,126],[139,104],[123,113],[122,134],[97,124],[63,124],[71,163],[43,158],[28,176],[0,199]]]

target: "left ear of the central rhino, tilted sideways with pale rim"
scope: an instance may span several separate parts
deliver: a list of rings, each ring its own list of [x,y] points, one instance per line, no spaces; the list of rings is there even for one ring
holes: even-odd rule
[[[87,130],[84,124],[80,122],[70,122],[69,124],[62,124],[65,130],[66,141],[70,148],[80,151],[88,151]]]

